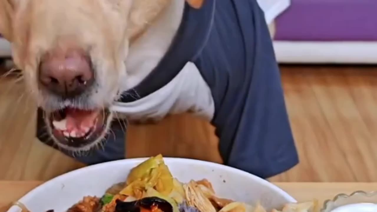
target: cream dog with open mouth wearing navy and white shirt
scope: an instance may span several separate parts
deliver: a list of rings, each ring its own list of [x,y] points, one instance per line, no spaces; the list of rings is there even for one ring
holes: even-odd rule
[[[84,163],[124,157],[116,118],[182,112],[216,127],[229,166],[267,178],[298,163],[256,0],[0,0],[0,33],[37,137]]]

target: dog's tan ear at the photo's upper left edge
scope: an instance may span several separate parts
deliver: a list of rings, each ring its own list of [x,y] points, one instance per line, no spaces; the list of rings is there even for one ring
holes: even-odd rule
[[[12,40],[13,8],[9,0],[0,0],[0,34],[7,40]]]

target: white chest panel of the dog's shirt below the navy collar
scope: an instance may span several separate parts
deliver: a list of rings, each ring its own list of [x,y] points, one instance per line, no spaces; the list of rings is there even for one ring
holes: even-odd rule
[[[128,120],[161,120],[168,114],[192,112],[210,121],[215,113],[211,90],[194,63],[188,62],[168,84],[141,99],[115,102],[112,111]]]

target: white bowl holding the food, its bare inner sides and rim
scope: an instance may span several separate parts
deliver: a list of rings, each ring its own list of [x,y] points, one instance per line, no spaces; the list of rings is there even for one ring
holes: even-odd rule
[[[114,183],[125,181],[130,169],[147,158],[135,158],[87,166],[56,177],[38,186],[19,201],[31,212],[65,212],[86,195],[101,197]],[[164,158],[166,165],[181,182],[208,179],[216,194],[222,198],[255,204],[258,201],[266,209],[280,208],[285,203],[296,202],[285,191],[247,172],[217,163]],[[8,212],[21,212],[12,206]]]

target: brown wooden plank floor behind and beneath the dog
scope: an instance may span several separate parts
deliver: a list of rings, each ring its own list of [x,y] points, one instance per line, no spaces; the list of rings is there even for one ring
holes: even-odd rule
[[[377,68],[282,67],[300,164],[271,181],[377,181]],[[47,180],[83,165],[34,138],[35,105],[0,80],[0,180]],[[127,156],[221,162],[207,123],[180,115],[130,126]],[[252,162],[252,161],[251,161]]]

